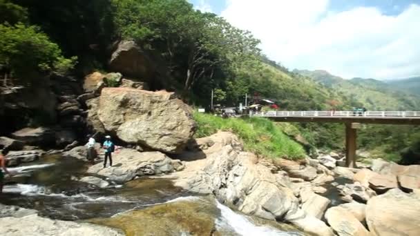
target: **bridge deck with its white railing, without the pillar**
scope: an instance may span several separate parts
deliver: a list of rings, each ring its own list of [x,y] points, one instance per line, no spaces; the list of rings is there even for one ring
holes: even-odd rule
[[[283,122],[420,124],[420,111],[268,111],[252,112],[251,116]]]

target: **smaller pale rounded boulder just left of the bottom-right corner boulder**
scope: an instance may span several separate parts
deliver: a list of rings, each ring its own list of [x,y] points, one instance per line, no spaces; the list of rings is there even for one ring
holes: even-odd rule
[[[325,213],[325,218],[338,236],[370,235],[365,226],[352,213],[341,206],[329,208]]]

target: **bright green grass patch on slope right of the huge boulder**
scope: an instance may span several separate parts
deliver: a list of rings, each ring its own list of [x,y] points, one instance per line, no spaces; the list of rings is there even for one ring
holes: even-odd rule
[[[238,135],[245,150],[271,159],[303,159],[305,150],[296,141],[283,133],[268,119],[258,117],[244,119],[223,119],[200,112],[194,113],[198,124],[195,137],[207,137],[218,130],[231,131]]]

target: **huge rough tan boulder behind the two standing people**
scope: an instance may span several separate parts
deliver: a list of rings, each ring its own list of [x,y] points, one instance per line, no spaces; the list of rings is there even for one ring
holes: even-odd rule
[[[128,144],[180,153],[195,131],[191,108],[173,93],[133,88],[104,88],[89,119],[96,130],[115,134]],[[98,122],[100,121],[100,124]]]

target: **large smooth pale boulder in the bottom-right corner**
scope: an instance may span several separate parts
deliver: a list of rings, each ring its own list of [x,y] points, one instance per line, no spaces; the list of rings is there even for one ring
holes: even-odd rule
[[[372,235],[420,235],[420,196],[398,188],[367,201],[366,222]]]

